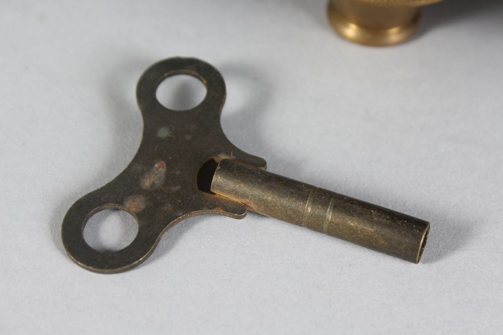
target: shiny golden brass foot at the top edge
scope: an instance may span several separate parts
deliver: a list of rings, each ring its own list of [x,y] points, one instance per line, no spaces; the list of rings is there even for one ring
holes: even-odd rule
[[[416,31],[421,6],[441,0],[330,0],[328,18],[344,38],[366,45],[405,42]]]

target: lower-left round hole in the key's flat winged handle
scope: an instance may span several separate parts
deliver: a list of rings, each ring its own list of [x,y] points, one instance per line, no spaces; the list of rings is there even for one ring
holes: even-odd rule
[[[138,235],[138,222],[123,209],[103,209],[93,214],[83,230],[84,241],[99,252],[116,252]]]

